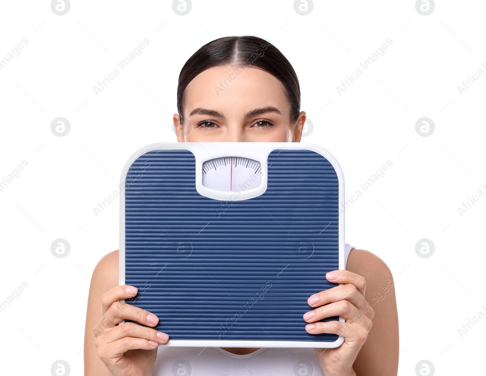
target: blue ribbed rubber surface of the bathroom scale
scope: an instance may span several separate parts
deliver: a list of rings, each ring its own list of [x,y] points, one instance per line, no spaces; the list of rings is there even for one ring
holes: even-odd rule
[[[196,191],[187,150],[129,169],[125,283],[139,295],[126,303],[156,314],[172,340],[337,339],[302,319],[309,296],[336,286],[325,274],[339,269],[337,175],[306,150],[273,151],[269,165],[267,190],[235,202]]]

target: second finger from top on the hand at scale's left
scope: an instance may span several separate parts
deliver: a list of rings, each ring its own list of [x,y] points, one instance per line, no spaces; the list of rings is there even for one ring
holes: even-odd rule
[[[106,328],[113,328],[123,320],[132,320],[147,326],[156,326],[158,324],[158,317],[153,313],[132,306],[131,304],[115,302],[108,308],[100,322],[95,326],[95,337],[103,333]]]

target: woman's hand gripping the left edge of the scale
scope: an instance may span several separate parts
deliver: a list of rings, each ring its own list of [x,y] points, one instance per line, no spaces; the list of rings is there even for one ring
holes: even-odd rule
[[[166,333],[149,326],[158,324],[158,317],[144,309],[119,302],[137,295],[133,286],[117,286],[102,296],[102,319],[95,326],[98,356],[112,376],[152,376],[159,343],[169,341]]]

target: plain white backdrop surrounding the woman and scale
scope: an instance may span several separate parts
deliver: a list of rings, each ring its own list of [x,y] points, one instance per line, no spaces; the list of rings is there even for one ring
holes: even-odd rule
[[[140,147],[176,142],[171,131],[177,78],[209,41],[254,34],[273,43],[299,77],[302,107],[321,144],[343,166],[347,196],[388,160],[393,165],[346,211],[346,241],[389,265],[400,325],[399,375],[422,359],[437,375],[483,367],[486,318],[486,197],[461,216],[484,168],[486,75],[462,95],[458,85],[486,65],[484,1],[437,1],[420,15],[415,1],[315,1],[298,15],[293,1],[196,1],[186,16],[171,1],[71,1],[64,16],[50,1],[2,1],[0,59],[28,44],[0,70],[0,181],[28,165],[0,191],[1,293],[28,287],[1,318],[2,371],[50,375],[64,359],[83,374],[83,335],[90,275],[119,247],[121,168]],[[139,43],[150,44],[103,91],[94,85]],[[387,38],[393,43],[338,94]],[[51,122],[69,120],[67,136]],[[429,137],[419,118],[435,123]],[[67,257],[51,254],[67,239]],[[433,241],[429,258],[419,239]],[[486,308],[485,308],[486,309]],[[6,369],[5,369],[6,367]]]

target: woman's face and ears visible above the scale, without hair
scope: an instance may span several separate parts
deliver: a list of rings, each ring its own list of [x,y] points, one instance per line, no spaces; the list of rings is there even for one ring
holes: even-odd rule
[[[305,112],[292,121],[285,87],[259,68],[208,68],[186,87],[178,142],[300,142]]]

